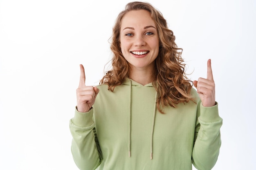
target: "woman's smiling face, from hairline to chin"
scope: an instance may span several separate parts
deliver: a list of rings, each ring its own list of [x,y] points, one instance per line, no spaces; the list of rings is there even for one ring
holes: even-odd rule
[[[120,46],[133,70],[150,70],[159,52],[155,22],[146,10],[129,11],[121,20]]]

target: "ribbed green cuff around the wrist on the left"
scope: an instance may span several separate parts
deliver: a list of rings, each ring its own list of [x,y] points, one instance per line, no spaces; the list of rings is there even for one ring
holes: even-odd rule
[[[90,109],[88,112],[79,112],[77,111],[77,107],[76,107],[75,116],[72,119],[72,122],[79,127],[88,127],[94,123],[92,117],[93,117],[93,108]]]

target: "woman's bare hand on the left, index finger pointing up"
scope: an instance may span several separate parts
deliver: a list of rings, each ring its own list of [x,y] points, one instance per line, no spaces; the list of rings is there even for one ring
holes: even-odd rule
[[[80,71],[79,87],[76,89],[77,111],[88,112],[95,102],[99,89],[97,87],[85,85],[85,72],[83,65],[81,64]]]

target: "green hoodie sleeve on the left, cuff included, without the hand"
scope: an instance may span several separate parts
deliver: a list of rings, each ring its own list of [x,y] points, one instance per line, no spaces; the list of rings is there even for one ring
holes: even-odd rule
[[[70,132],[73,137],[71,152],[76,166],[80,170],[95,170],[101,159],[93,121],[93,108],[86,113],[75,110],[75,116],[70,120]]]

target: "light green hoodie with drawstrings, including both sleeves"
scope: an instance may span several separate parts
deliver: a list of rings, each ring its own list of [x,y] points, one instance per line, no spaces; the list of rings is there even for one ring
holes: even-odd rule
[[[156,108],[152,83],[126,79],[114,92],[99,85],[93,108],[70,120],[72,155],[81,170],[210,170],[218,159],[218,103],[195,101]]]

